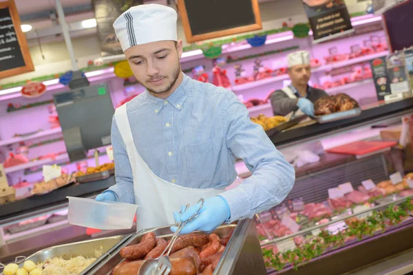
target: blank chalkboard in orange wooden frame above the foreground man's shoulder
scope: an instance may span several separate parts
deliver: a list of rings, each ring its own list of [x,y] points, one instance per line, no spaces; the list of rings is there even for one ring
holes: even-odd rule
[[[187,42],[261,30],[257,0],[178,0]]]

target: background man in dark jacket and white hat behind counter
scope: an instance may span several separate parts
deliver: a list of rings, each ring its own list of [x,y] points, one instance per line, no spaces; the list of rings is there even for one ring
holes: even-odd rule
[[[288,54],[287,58],[291,85],[271,94],[270,100],[274,115],[287,115],[299,109],[306,115],[313,116],[313,103],[323,96],[328,96],[328,94],[308,85],[311,66],[310,54],[307,51],[293,52]]]

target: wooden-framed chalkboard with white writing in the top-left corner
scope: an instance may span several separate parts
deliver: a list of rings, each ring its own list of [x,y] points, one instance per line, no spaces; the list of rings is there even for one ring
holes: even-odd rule
[[[0,78],[33,71],[14,1],[0,2]]]

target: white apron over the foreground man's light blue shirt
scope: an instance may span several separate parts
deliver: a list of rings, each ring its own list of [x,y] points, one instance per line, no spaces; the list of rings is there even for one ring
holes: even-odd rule
[[[207,199],[224,192],[224,189],[182,187],[155,175],[136,150],[127,117],[127,104],[116,109],[115,119],[132,168],[135,203],[139,206],[136,210],[137,231],[174,224],[173,212],[179,211],[180,206],[187,203],[192,206],[200,198]]]

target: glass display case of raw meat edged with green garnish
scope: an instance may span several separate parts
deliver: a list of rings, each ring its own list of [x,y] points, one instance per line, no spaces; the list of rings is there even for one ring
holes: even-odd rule
[[[268,274],[346,274],[413,248],[411,101],[271,137],[296,181],[255,215]],[[297,162],[306,151],[318,159]]]

